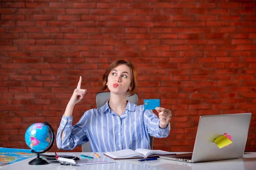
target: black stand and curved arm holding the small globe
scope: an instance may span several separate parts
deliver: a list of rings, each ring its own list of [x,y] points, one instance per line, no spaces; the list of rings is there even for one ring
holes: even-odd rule
[[[49,125],[46,121],[44,122],[44,124],[46,126],[49,127],[49,129],[52,131],[52,141],[51,141],[51,144],[48,146],[48,148],[46,148],[45,150],[43,151],[40,151],[40,152],[37,152],[35,150],[31,150],[31,152],[34,152],[36,153],[36,158],[29,161],[29,165],[45,165],[45,164],[49,164],[46,160],[40,158],[40,153],[44,153],[44,152],[47,152],[48,150],[50,150],[54,144],[54,141],[55,141],[55,133],[54,133],[54,130],[52,128],[51,125]]]

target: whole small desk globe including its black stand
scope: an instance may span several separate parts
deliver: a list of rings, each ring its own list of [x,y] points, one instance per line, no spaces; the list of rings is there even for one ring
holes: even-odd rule
[[[44,165],[47,161],[40,158],[40,153],[47,152],[52,148],[55,140],[55,133],[51,125],[47,122],[35,123],[27,128],[25,141],[31,152],[37,157],[29,162],[29,165]]]

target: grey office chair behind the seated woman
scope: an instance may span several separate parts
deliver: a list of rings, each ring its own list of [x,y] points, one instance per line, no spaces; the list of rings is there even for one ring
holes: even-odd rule
[[[138,104],[138,94],[132,96],[126,96],[126,100],[134,104]],[[100,92],[96,95],[96,106],[97,108],[103,106],[110,99],[110,92]],[[150,148],[153,148],[153,137],[149,136]],[[82,145],[82,152],[91,152],[89,141]]]

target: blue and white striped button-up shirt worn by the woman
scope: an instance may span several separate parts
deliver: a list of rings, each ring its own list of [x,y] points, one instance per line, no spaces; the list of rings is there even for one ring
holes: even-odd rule
[[[149,135],[167,137],[171,130],[159,127],[159,118],[144,105],[127,103],[126,110],[119,117],[110,110],[108,102],[102,107],[87,110],[79,122],[72,126],[73,117],[63,115],[56,135],[59,149],[72,150],[90,141],[92,152],[108,152],[122,149],[150,149]],[[64,138],[61,140],[61,132]]]

